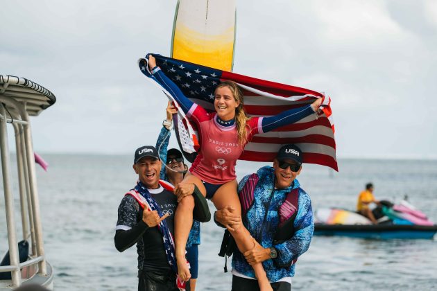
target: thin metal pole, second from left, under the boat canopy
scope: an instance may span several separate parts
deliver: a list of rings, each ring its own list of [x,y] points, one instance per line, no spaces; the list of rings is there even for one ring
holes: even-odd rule
[[[14,116],[15,117],[15,116]],[[26,203],[26,182],[24,182],[24,168],[23,168],[23,155],[22,155],[22,131],[21,125],[12,123],[15,130],[15,149],[17,151],[17,170],[18,170],[18,185],[19,185],[19,204],[22,210],[22,229],[23,240],[27,240],[29,232],[28,213]]]

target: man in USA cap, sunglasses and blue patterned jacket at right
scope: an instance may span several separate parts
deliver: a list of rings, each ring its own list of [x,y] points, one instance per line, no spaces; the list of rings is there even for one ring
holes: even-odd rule
[[[262,167],[239,183],[242,222],[254,247],[244,254],[233,249],[232,290],[259,290],[251,267],[255,263],[263,264],[273,290],[291,290],[295,261],[307,251],[314,231],[311,200],[296,179],[302,161],[298,146],[284,145],[273,167]],[[241,223],[230,207],[216,211],[214,219],[228,229]],[[223,244],[221,253],[230,255],[232,247],[225,249]]]

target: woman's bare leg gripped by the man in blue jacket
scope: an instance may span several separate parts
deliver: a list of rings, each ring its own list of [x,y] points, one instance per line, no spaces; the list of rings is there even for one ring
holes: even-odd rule
[[[214,197],[212,197],[212,202],[214,206],[216,206],[216,209],[223,209],[225,206],[231,205],[236,210],[235,215],[241,216],[241,205],[237,194],[237,181],[228,182],[218,188]],[[249,231],[243,224],[241,224],[240,227],[234,227],[234,231],[230,231],[230,233],[234,237],[235,243],[237,243],[237,247],[241,253],[247,252],[255,247],[252,236],[250,236]],[[252,267],[258,279],[259,289],[261,291],[273,290],[267,279],[266,271],[264,271],[262,263],[257,263],[252,265]]]

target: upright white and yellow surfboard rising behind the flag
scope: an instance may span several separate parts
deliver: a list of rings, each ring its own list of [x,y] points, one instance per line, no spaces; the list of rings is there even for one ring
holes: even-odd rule
[[[237,0],[178,0],[171,58],[232,71]]]

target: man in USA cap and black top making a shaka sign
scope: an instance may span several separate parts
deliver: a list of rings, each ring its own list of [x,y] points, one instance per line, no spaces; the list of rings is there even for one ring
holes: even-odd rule
[[[153,146],[135,150],[135,188],[121,200],[115,247],[119,252],[137,244],[138,290],[178,291],[174,258],[174,213],[177,197],[171,184],[160,181],[162,162]],[[186,286],[189,290],[189,284]]]

